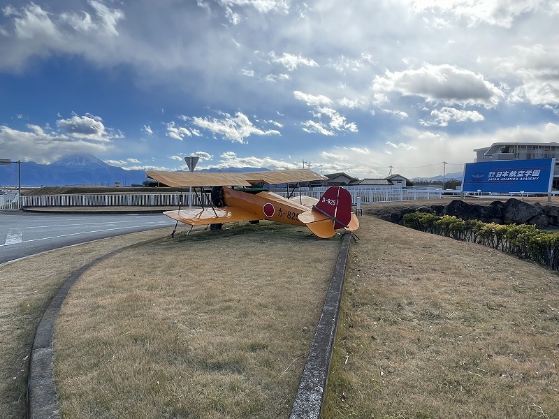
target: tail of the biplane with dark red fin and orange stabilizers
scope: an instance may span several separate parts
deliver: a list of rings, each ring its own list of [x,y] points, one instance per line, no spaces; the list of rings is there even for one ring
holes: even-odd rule
[[[299,214],[299,220],[318,237],[328,238],[335,230],[344,228],[354,231],[359,228],[357,216],[351,212],[351,194],[341,186],[331,186],[312,210]]]

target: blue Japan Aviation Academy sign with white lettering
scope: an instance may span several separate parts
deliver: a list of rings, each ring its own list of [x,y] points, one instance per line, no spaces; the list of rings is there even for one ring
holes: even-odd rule
[[[555,159],[466,163],[462,191],[549,193],[554,168]]]

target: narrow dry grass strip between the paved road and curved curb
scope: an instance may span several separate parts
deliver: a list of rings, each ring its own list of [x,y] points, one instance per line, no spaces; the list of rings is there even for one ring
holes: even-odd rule
[[[29,353],[38,322],[52,296],[91,260],[167,230],[136,233],[43,253],[0,266],[0,417],[26,417]]]

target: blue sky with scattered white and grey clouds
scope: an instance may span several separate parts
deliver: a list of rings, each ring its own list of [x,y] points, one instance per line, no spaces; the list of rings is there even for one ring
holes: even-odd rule
[[[559,140],[556,0],[0,0],[0,159],[461,172]]]

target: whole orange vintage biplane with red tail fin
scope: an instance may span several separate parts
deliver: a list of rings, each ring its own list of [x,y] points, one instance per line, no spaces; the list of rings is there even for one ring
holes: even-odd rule
[[[326,179],[312,170],[270,170],[268,172],[163,172],[149,171],[147,177],[171,187],[211,186],[211,205],[188,210],[166,211],[171,219],[190,226],[210,225],[212,230],[223,223],[260,220],[307,226],[321,238],[333,237],[336,230],[355,231],[359,227],[351,211],[351,195],[341,186],[331,186],[321,198],[293,196],[284,198],[264,184],[295,184]],[[289,188],[288,188],[289,189]],[[197,195],[197,193],[196,193]],[[202,203],[202,200],[200,200]]]

